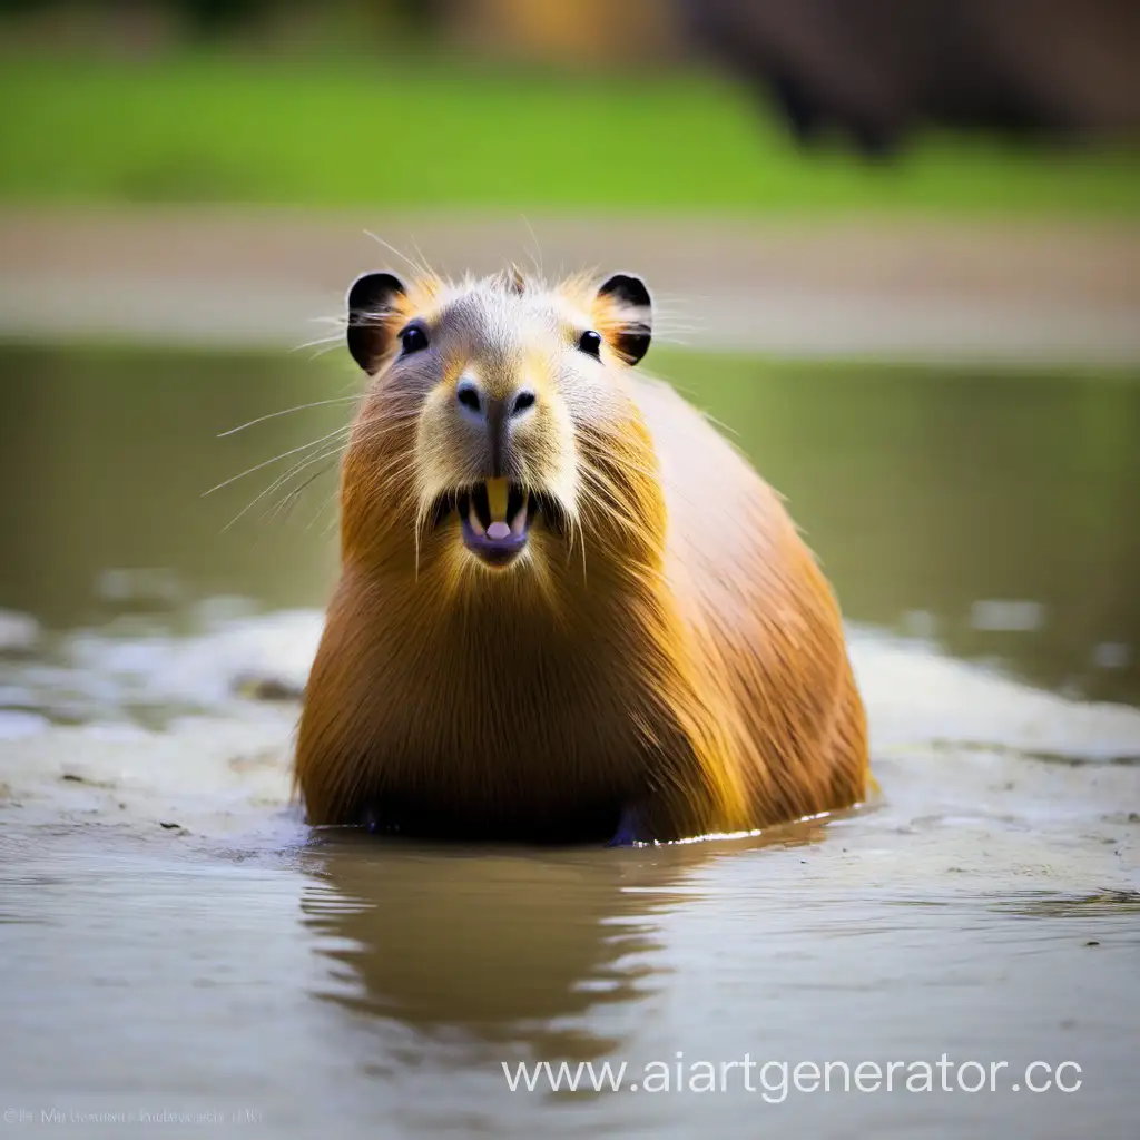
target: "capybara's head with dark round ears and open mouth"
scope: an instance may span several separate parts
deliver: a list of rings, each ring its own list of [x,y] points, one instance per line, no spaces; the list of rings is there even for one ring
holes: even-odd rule
[[[348,344],[372,381],[342,477],[345,559],[475,587],[551,581],[571,556],[579,576],[651,562],[663,506],[627,376],[651,324],[627,274],[359,277]]]

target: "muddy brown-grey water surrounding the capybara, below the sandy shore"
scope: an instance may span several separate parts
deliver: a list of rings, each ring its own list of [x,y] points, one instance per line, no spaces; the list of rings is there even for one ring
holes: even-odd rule
[[[837,581],[869,811],[617,852],[308,831],[290,693],[333,473],[229,529],[307,453],[201,492],[350,405],[219,432],[351,397],[351,372],[0,355],[0,608],[41,624],[0,622],[14,1133],[57,1112],[90,1135],[179,1114],[303,1137],[1134,1134],[1135,377],[658,366],[739,431]],[[542,1060],[625,1062],[625,1088],[512,1092],[503,1064]],[[906,1067],[891,1091],[793,1083],[826,1061]],[[1081,1088],[1031,1092],[1033,1061]]]

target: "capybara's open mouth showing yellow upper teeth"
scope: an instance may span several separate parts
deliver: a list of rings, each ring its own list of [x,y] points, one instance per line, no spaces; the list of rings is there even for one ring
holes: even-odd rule
[[[561,532],[564,514],[557,500],[507,479],[488,479],[441,495],[432,512],[437,527],[458,515],[463,545],[487,565],[510,565],[527,547],[531,527],[542,518]]]

